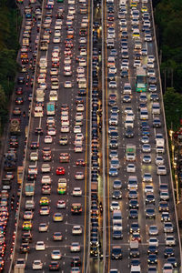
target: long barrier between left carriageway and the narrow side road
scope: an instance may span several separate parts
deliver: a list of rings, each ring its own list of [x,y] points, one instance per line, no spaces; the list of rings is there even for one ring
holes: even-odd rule
[[[41,17],[41,25],[40,25],[40,35],[39,35],[39,39],[38,39],[38,44],[37,44],[37,52],[36,52],[36,65],[35,65],[35,75],[37,72],[37,66],[38,66],[38,58],[40,55],[40,50],[39,50],[39,44],[40,44],[40,37],[42,35],[42,23],[43,23],[43,17],[44,17],[44,7],[45,7],[45,0],[43,0],[42,2],[42,17]],[[23,20],[23,23],[25,22],[25,20]],[[14,266],[15,266],[15,248],[16,248],[16,244],[17,244],[17,234],[18,234],[18,227],[19,227],[19,220],[20,220],[20,208],[21,208],[21,203],[22,203],[22,197],[23,197],[23,188],[24,188],[24,183],[25,183],[25,163],[26,163],[26,157],[27,157],[27,149],[28,149],[28,142],[29,142],[29,135],[30,135],[30,127],[32,124],[32,113],[33,113],[33,105],[34,105],[34,96],[35,96],[35,80],[36,77],[34,77],[34,84],[33,84],[33,91],[32,91],[32,101],[31,101],[31,107],[30,107],[30,116],[29,116],[29,122],[28,122],[28,132],[27,132],[27,139],[26,139],[26,145],[25,145],[25,158],[23,161],[23,180],[22,180],[22,187],[21,187],[21,192],[20,192],[20,198],[19,198],[19,206],[18,206],[18,210],[17,210],[17,222],[16,222],[16,227],[15,227],[15,245],[14,245],[14,250],[13,250],[13,254],[12,254],[12,260],[11,260],[11,264],[10,264],[10,268],[8,273],[12,273]]]

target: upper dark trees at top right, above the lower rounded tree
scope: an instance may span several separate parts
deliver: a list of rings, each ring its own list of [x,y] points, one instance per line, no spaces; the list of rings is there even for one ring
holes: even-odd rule
[[[163,86],[164,71],[166,71],[166,86],[171,87],[173,83],[177,92],[182,93],[182,1],[161,0],[157,3],[157,0],[154,0],[154,4],[157,4],[155,19],[159,34],[158,44],[162,51]]]

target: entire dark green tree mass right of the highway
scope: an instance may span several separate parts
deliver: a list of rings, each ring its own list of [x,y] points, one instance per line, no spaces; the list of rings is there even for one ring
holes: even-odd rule
[[[182,118],[182,1],[153,0],[167,128]]]

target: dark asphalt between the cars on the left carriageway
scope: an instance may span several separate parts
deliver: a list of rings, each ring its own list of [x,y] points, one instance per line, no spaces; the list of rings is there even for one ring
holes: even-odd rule
[[[67,9],[68,5],[66,3],[63,4],[57,4],[55,3],[55,6],[53,8],[53,21],[51,24],[51,35],[50,35],[50,43],[48,45],[48,51],[47,51],[47,74],[46,74],[46,84],[47,84],[47,90],[45,91],[45,104],[46,102],[49,101],[49,90],[51,86],[50,82],[50,68],[52,65],[51,62],[51,54],[52,50],[55,45],[53,44],[53,36],[54,36],[54,25],[56,21],[56,12],[57,8],[59,6],[63,6],[65,10],[65,15],[64,15],[64,20],[63,20],[63,25],[62,25],[62,30],[61,30],[61,43],[60,43],[60,68],[59,68],[59,90],[58,90],[58,101],[56,102],[56,136],[54,136],[54,140],[52,144],[45,144],[44,143],[44,136],[46,132],[46,113],[44,116],[41,118],[35,117],[32,118],[33,122],[31,125],[31,132],[30,132],[30,137],[29,141],[30,143],[32,141],[37,141],[39,139],[39,160],[37,162],[37,169],[38,169],[38,176],[36,178],[35,182],[35,213],[34,213],[34,219],[33,219],[33,243],[31,244],[31,249],[30,252],[26,255],[19,255],[16,253],[16,257],[22,258],[24,257],[26,259],[26,268],[25,272],[31,272],[32,271],[32,263],[35,259],[41,259],[42,262],[44,263],[44,268],[43,271],[47,272],[49,263],[51,261],[51,251],[53,249],[60,249],[62,253],[62,259],[60,261],[60,270],[62,272],[65,272],[67,269],[70,269],[70,262],[74,254],[70,252],[70,245],[72,242],[77,241],[80,243],[81,246],[81,252],[76,253],[75,256],[79,256],[82,260],[82,272],[84,272],[85,268],[85,260],[86,260],[86,249],[87,249],[87,240],[86,240],[86,230],[87,230],[87,222],[86,222],[86,213],[87,213],[87,201],[88,201],[88,196],[87,196],[87,165],[86,167],[76,167],[76,159],[78,158],[84,158],[87,162],[87,148],[88,148],[88,126],[87,123],[89,122],[88,118],[88,76],[87,76],[87,95],[84,97],[84,105],[85,105],[85,111],[84,111],[84,122],[82,126],[82,133],[85,136],[84,139],[84,151],[83,153],[76,154],[74,152],[74,141],[75,141],[75,134],[73,132],[73,127],[75,125],[75,116],[76,116],[76,96],[77,96],[77,83],[76,83],[76,67],[78,66],[78,63],[76,63],[76,56],[79,55],[79,49],[78,49],[78,39],[79,39],[79,28],[81,24],[81,19],[84,15],[79,14],[79,3],[76,2],[76,15],[75,15],[75,20],[74,20],[74,30],[75,30],[75,37],[74,37],[74,47],[72,49],[73,52],[73,57],[72,57],[72,71],[73,71],[73,76],[64,76],[63,72],[63,61],[64,61],[64,50],[65,50],[65,44],[64,41],[66,39],[66,15],[67,15]],[[44,20],[43,20],[44,21]],[[87,28],[87,33],[89,35],[89,24]],[[88,47],[89,50],[89,40],[88,40]],[[89,54],[89,51],[87,51]],[[41,52],[41,56],[44,56],[45,52]],[[89,65],[89,58],[87,57],[87,62]],[[87,67],[88,67],[87,65]],[[86,70],[87,70],[86,67]],[[88,72],[86,71],[86,74]],[[37,76],[37,75],[36,75]],[[66,80],[71,80],[73,82],[73,88],[64,88],[64,83]],[[36,84],[37,86],[37,84]],[[35,86],[35,88],[36,88]],[[69,143],[66,147],[61,147],[58,143],[58,138],[60,135],[60,126],[61,126],[61,120],[60,120],[60,109],[61,105],[66,104],[69,106],[69,121],[70,121],[70,133],[67,133],[65,135],[68,136],[69,138]],[[37,126],[42,126],[44,129],[44,135],[43,136],[35,136],[35,127]],[[64,134],[63,134],[64,135]],[[42,197],[41,194],[41,166],[44,163],[42,159],[42,148],[43,147],[51,147],[52,150],[52,155],[53,159],[50,162],[51,165],[51,173],[50,176],[52,177],[52,188],[51,188],[51,195],[50,195],[50,215],[49,216],[40,216],[39,215],[39,200]],[[59,163],[59,154],[61,152],[68,152],[70,154],[70,162],[69,163]],[[30,153],[30,150],[28,150],[28,155]],[[29,159],[26,158],[26,167],[30,164]],[[86,163],[87,164],[87,163]],[[64,196],[59,196],[56,192],[57,190],[57,180],[59,177],[56,176],[56,167],[63,166],[66,168],[66,177],[67,179],[67,190],[66,190],[66,195]],[[83,171],[85,173],[85,179],[83,180],[76,180],[75,179],[75,174],[76,171]],[[26,178],[25,178],[26,179]],[[72,196],[72,191],[73,187],[81,187],[83,194],[82,197],[73,197]],[[21,225],[23,222],[23,211],[24,211],[24,206],[25,206],[25,199],[27,197],[23,198],[22,202],[22,213],[21,213],[21,219],[20,219],[20,225],[19,225],[19,231],[18,231],[18,244],[17,244],[17,252],[18,252],[18,247],[19,243],[21,240]],[[64,215],[64,220],[63,222],[53,222],[53,214],[58,211],[56,208],[56,202],[59,199],[64,199],[66,201],[66,209],[62,209],[61,212]],[[72,203],[81,203],[83,206],[83,212],[82,215],[80,216],[73,216],[71,214],[71,204]],[[46,222],[49,224],[48,231],[46,233],[40,233],[38,231],[39,224],[42,222]],[[73,236],[72,235],[72,227],[74,225],[80,225],[83,228],[83,234],[80,236]],[[53,234],[56,231],[61,231],[63,234],[63,241],[61,242],[56,242],[53,240]],[[35,251],[35,243],[36,241],[43,240],[46,245],[45,251]],[[42,272],[42,270],[41,270]]]

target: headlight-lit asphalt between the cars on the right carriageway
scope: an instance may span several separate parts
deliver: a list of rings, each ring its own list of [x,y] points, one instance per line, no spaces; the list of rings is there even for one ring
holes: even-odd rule
[[[137,222],[136,219],[129,219],[129,199],[128,199],[128,190],[127,190],[127,179],[131,175],[136,175],[138,180],[138,224],[140,227],[140,236],[141,236],[141,243],[139,243],[139,252],[140,252],[140,262],[141,262],[141,270],[142,272],[147,272],[147,247],[148,247],[148,227],[151,225],[157,225],[158,227],[158,240],[159,240],[159,247],[158,247],[158,258],[157,258],[157,270],[158,272],[161,272],[162,267],[164,263],[166,262],[166,259],[164,258],[164,249],[165,249],[165,234],[163,231],[163,223],[160,220],[161,214],[158,211],[158,203],[159,203],[159,182],[166,182],[169,187],[170,192],[170,199],[169,199],[169,213],[171,217],[171,222],[174,223],[174,236],[177,240],[177,246],[175,249],[175,257],[177,258],[177,269],[175,269],[175,272],[179,272],[178,268],[180,267],[180,257],[178,255],[179,253],[179,246],[178,246],[178,237],[177,237],[177,226],[176,226],[176,218],[174,214],[174,203],[173,203],[173,197],[171,193],[171,181],[170,181],[170,174],[169,174],[169,163],[167,159],[167,149],[166,153],[164,155],[165,158],[165,165],[167,166],[167,176],[157,176],[157,166],[155,164],[155,158],[156,158],[156,145],[155,145],[155,136],[157,133],[162,133],[163,136],[165,136],[165,128],[164,128],[164,116],[163,113],[160,114],[160,119],[162,126],[161,128],[153,128],[152,121],[153,116],[151,114],[151,102],[149,99],[149,93],[147,93],[147,108],[149,113],[149,119],[148,119],[148,125],[150,126],[150,145],[151,145],[151,158],[152,158],[152,164],[143,164],[142,163],[142,157],[144,156],[144,153],[141,150],[142,144],[141,144],[141,131],[140,131],[140,118],[139,118],[139,112],[138,112],[138,106],[139,106],[139,95],[135,91],[135,84],[136,84],[136,68],[134,68],[134,39],[132,38],[132,29],[131,29],[131,17],[130,17],[130,7],[127,5],[127,15],[126,15],[126,24],[127,24],[127,32],[128,32],[128,50],[129,50],[129,82],[132,86],[132,101],[131,103],[123,103],[123,86],[125,82],[128,82],[128,79],[124,79],[120,77],[120,65],[122,62],[121,57],[121,46],[120,46],[120,30],[119,30],[119,20],[117,18],[117,11],[118,11],[118,5],[119,2],[115,1],[115,29],[116,29],[116,39],[115,39],[115,48],[117,50],[117,57],[116,57],[116,67],[117,67],[117,73],[116,73],[116,82],[117,82],[117,88],[116,90],[110,90],[109,87],[106,84],[106,98],[108,98],[109,94],[115,93],[116,94],[116,105],[119,107],[119,122],[118,122],[118,158],[120,161],[120,168],[119,168],[119,175],[118,177],[109,177],[108,176],[108,169],[109,169],[109,148],[108,148],[108,137],[107,139],[107,158],[106,158],[106,179],[107,179],[107,190],[106,190],[106,200],[107,201],[107,251],[106,251],[106,257],[107,257],[107,266],[108,268],[117,268],[120,270],[120,272],[130,272],[130,258],[129,258],[129,242],[131,239],[131,235],[129,233],[129,228],[131,223]],[[137,5],[138,10],[141,9],[142,5]],[[150,11],[150,3],[147,4],[148,11]],[[105,2],[105,9],[106,9],[106,2]],[[106,22],[106,13],[105,13],[105,22]],[[151,16],[151,15],[150,15]],[[148,55],[154,55],[156,58],[156,51],[155,51],[155,43],[154,38],[152,42],[145,42],[144,41],[144,35],[141,31],[142,29],[142,18],[141,18],[141,11],[140,11],[140,17],[139,17],[139,28],[140,28],[140,35],[142,37],[142,45],[143,47],[147,48]],[[106,28],[105,28],[106,33]],[[106,56],[109,56],[109,49],[106,49]],[[147,63],[147,57],[142,57],[142,64],[145,65]],[[157,71],[157,61],[155,62],[155,69]],[[157,78],[158,78],[158,71],[157,71]],[[160,86],[159,81],[157,80],[157,94],[160,97]],[[161,102],[161,98],[160,98]],[[126,138],[125,136],[125,128],[124,128],[124,121],[125,121],[125,114],[124,109],[126,106],[132,106],[135,114],[135,122],[134,122],[134,138]],[[161,111],[162,112],[162,111]],[[106,131],[108,130],[108,118],[110,116],[110,106],[107,106],[106,101]],[[108,136],[108,135],[107,135]],[[166,137],[165,137],[166,138]],[[136,145],[136,173],[126,173],[126,159],[125,159],[125,153],[126,153],[126,145],[127,144],[133,144]],[[153,177],[153,187],[154,187],[154,194],[156,197],[156,204],[155,204],[155,211],[156,211],[156,219],[147,219],[146,218],[146,202],[145,202],[145,192],[144,187],[145,183],[142,182],[142,177],[145,172],[150,172]],[[119,178],[122,183],[122,200],[119,201],[119,204],[121,206],[122,216],[123,216],[123,239],[113,239],[112,238],[112,213],[109,212],[109,204],[112,201],[112,191],[113,191],[113,181],[116,180],[116,178]],[[112,260],[110,258],[111,256],[111,248],[115,245],[121,245],[123,250],[123,258],[121,260]],[[106,268],[107,268],[106,266]],[[107,269],[106,269],[107,270]]]

